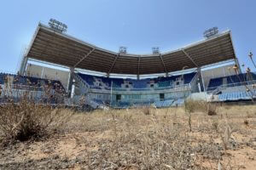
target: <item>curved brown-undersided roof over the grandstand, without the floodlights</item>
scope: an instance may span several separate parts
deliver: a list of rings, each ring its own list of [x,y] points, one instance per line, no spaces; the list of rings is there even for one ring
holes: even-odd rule
[[[119,54],[38,25],[26,56],[90,71],[144,75],[181,71],[236,59],[230,31],[163,54]]]

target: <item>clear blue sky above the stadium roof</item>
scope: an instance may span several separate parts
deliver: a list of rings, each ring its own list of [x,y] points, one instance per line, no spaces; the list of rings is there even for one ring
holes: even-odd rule
[[[67,34],[118,51],[150,54],[166,52],[203,38],[213,26],[230,29],[241,64],[256,58],[255,0],[1,0],[0,71],[15,71],[38,22],[50,18],[67,24]],[[255,71],[255,69],[253,69]]]

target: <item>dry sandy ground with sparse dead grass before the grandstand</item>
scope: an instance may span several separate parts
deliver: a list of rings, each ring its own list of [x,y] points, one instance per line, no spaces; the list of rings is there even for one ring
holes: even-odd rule
[[[255,169],[256,105],[190,120],[183,107],[76,113],[48,139],[1,148],[0,169]]]

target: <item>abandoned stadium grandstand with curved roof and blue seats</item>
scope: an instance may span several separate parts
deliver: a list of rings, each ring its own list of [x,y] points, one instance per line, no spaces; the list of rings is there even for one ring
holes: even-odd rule
[[[56,24],[57,23],[57,24]],[[242,72],[231,31],[212,28],[203,40],[174,51],[129,54],[98,48],[65,33],[66,25],[39,23],[17,74],[0,73],[0,88],[61,95],[65,105],[169,107],[185,99],[250,101],[256,74]],[[1,94],[0,102],[8,94]],[[18,98],[18,96],[17,96]],[[58,103],[53,99],[51,103]]]

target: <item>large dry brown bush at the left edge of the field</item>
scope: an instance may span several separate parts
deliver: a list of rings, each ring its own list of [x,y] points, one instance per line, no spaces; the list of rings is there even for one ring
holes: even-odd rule
[[[36,102],[29,93],[18,101],[9,97],[0,105],[0,142],[47,137],[67,122],[68,116],[57,107]]]

